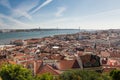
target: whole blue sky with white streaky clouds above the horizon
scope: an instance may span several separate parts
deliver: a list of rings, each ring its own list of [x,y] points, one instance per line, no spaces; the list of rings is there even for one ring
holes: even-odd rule
[[[120,0],[0,0],[0,29],[120,29]]]

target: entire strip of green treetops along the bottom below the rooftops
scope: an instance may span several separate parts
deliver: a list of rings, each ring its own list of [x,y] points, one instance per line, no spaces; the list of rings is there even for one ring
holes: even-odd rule
[[[0,69],[0,76],[2,80],[119,80],[120,70],[113,70],[108,74],[90,70],[69,70],[59,76],[50,73],[33,76],[30,70],[21,65],[5,64]]]

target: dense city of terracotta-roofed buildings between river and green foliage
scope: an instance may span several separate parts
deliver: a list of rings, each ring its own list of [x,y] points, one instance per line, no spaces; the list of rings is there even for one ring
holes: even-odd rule
[[[0,47],[0,65],[20,64],[34,75],[59,75],[71,69],[109,72],[120,68],[120,30],[19,39],[10,45]]]

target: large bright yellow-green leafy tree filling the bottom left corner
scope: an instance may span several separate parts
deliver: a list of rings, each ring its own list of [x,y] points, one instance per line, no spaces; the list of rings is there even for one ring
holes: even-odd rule
[[[30,70],[20,65],[5,64],[0,69],[2,80],[33,80]]]

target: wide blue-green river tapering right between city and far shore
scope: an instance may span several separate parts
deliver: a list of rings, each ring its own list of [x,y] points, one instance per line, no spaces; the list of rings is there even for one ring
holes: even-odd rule
[[[9,44],[12,40],[17,39],[31,39],[31,38],[42,38],[59,34],[73,34],[78,33],[77,29],[60,29],[60,30],[41,30],[41,31],[30,31],[30,32],[10,32],[0,33],[0,44]]]

